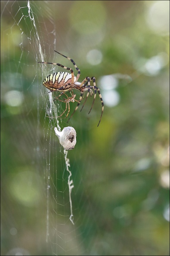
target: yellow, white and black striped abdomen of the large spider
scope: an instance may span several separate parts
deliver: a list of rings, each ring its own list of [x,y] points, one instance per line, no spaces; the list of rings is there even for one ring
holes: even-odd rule
[[[71,74],[68,72],[56,72],[48,75],[43,81],[43,85],[49,91],[68,91],[71,88]],[[76,77],[74,75],[74,82]],[[61,90],[59,90],[62,87]]]

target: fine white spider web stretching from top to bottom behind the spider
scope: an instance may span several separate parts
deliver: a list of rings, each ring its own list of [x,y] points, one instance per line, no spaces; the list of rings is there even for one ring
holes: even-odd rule
[[[65,108],[64,104],[58,102],[54,105],[52,94],[48,94],[42,85],[43,79],[57,68],[37,63],[52,62],[57,57],[54,53],[56,47],[63,44],[62,49],[66,48],[64,38],[61,39],[56,34],[53,17],[53,8],[46,1],[1,1],[2,23],[8,23],[4,24],[6,30],[2,31],[1,42],[4,49],[2,59],[6,62],[2,68],[1,93],[9,104],[9,112],[4,111],[3,115],[15,116],[14,137],[15,141],[22,141],[18,146],[20,154],[20,144],[24,141],[27,144],[28,159],[31,162],[28,165],[30,189],[36,179],[38,184],[34,189],[43,191],[43,203],[38,203],[36,211],[37,218],[42,218],[44,228],[37,231],[41,237],[41,241],[37,241],[37,247],[41,247],[39,252],[38,249],[37,252],[35,249],[29,251],[29,246],[14,246],[7,254],[42,255],[46,250],[49,255],[81,255],[86,252],[83,237],[92,228],[88,222],[91,218],[88,216],[88,209],[80,206],[82,200],[84,203],[88,200],[83,195],[85,188],[82,189],[83,175],[80,172],[83,172],[83,168],[81,165],[74,165],[74,152],[64,150],[54,132],[55,127],[61,131],[68,126],[67,120],[59,121],[48,117],[59,116]],[[57,62],[62,63],[64,60]],[[70,63],[68,65],[71,66]],[[10,94],[7,95],[6,91]],[[12,108],[15,109],[14,112]],[[79,123],[81,124],[80,119]],[[19,136],[16,135],[17,130]],[[71,169],[74,170],[73,177]],[[82,223],[85,228],[81,228]],[[15,225],[12,228],[15,229]],[[41,231],[44,236],[40,235]]]

